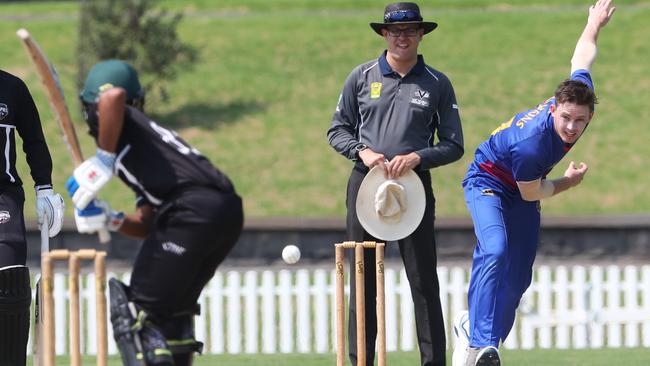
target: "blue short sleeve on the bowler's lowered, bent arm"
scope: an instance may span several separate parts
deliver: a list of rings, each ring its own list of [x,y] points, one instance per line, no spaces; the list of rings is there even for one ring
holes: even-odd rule
[[[522,140],[511,147],[512,176],[517,182],[530,182],[544,176],[544,157],[549,155],[540,136]]]

